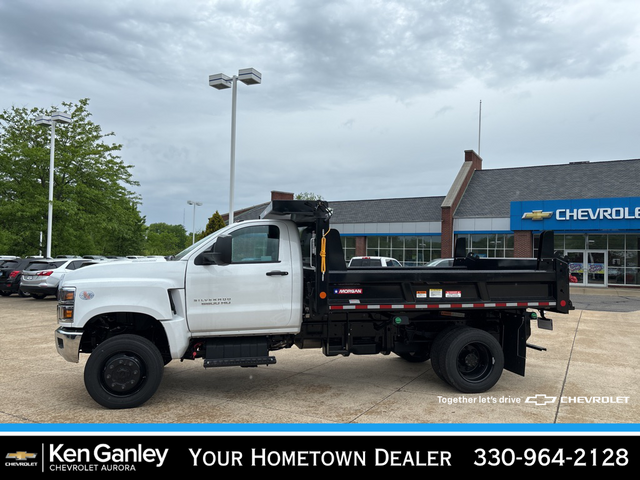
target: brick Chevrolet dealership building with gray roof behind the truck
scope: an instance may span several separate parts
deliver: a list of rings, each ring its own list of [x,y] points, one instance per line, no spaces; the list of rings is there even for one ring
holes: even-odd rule
[[[425,265],[451,257],[461,237],[479,256],[533,257],[540,232],[554,230],[578,284],[640,286],[638,179],[640,159],[483,169],[468,150],[445,196],[329,204],[347,260]],[[272,192],[272,200],[289,198]],[[267,204],[236,212],[236,221],[257,218]]]

